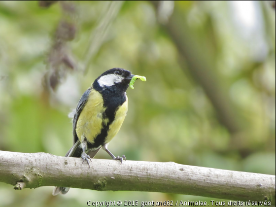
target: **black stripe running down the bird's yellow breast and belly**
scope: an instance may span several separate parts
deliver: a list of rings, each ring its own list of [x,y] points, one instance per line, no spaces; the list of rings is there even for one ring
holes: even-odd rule
[[[94,143],[87,143],[89,149],[92,148],[99,148],[100,146],[105,144],[105,139],[107,137],[109,126],[115,119],[115,114],[122,104],[126,102],[126,95],[125,93],[116,94],[114,92],[110,92],[110,90],[100,91],[104,99],[104,107],[106,108],[103,113],[103,119],[107,119],[106,125],[104,122],[102,123],[102,130],[101,133],[97,135],[94,139]]]

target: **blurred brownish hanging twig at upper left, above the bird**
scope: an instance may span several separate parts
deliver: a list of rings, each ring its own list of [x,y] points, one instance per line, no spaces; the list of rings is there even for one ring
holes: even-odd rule
[[[49,7],[57,1],[39,1],[40,6]],[[69,70],[76,69],[76,64],[71,55],[68,42],[76,35],[77,16],[76,5],[73,1],[59,1],[62,17],[53,37],[53,45],[47,55],[47,72],[44,75],[44,86],[46,91],[56,90],[61,80]]]

